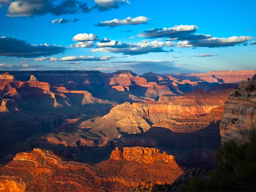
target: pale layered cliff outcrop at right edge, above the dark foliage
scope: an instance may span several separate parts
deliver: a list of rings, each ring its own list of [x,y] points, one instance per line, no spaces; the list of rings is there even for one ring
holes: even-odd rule
[[[255,127],[256,75],[252,80],[240,82],[238,88],[230,92],[220,124],[220,135],[222,141],[234,139],[246,142],[249,140],[250,129]]]

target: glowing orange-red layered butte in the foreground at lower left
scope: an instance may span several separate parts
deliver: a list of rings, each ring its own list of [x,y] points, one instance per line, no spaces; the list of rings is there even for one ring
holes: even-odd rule
[[[98,164],[71,162],[52,151],[18,153],[0,170],[2,191],[130,191],[138,185],[171,184],[184,170],[155,148],[114,150]]]

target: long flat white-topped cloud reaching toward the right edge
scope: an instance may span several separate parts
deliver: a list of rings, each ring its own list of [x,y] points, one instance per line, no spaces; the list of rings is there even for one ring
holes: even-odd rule
[[[229,38],[217,38],[212,37],[203,40],[191,40],[191,41],[182,41],[178,42],[178,47],[225,47],[225,46],[235,46],[237,44],[242,44],[247,42],[248,40],[252,40],[255,37],[250,36],[232,36]]]

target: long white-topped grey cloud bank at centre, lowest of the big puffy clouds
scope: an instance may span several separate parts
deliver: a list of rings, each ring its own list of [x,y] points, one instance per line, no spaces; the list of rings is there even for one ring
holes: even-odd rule
[[[172,42],[162,42],[156,40],[152,42],[149,40],[142,40],[139,43],[123,43],[104,38],[101,42],[98,42],[98,48],[92,49],[91,51],[122,53],[123,55],[140,55],[148,54],[149,52],[168,52],[163,50],[163,47],[172,46],[176,46],[176,44]]]

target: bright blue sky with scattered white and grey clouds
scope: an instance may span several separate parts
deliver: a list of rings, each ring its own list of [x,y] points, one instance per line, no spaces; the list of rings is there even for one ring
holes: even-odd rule
[[[255,0],[0,0],[0,70],[255,70],[255,7]]]

